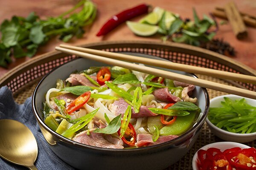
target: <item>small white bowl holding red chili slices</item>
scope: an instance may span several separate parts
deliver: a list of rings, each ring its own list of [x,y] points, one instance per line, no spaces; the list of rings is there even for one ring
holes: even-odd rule
[[[201,147],[200,149],[207,150],[210,147],[216,147],[216,148],[220,149],[222,152],[226,149],[230,149],[233,147],[240,147],[241,149],[250,148],[249,146],[247,146],[245,144],[240,144],[240,143],[236,143],[236,142],[216,142],[216,143],[207,144],[204,147]],[[196,151],[196,153],[192,159],[193,170],[198,170],[198,167],[196,164],[197,158],[198,158],[198,151]]]

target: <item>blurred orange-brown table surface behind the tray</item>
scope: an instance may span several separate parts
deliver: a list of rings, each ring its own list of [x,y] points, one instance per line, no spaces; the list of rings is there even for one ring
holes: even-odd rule
[[[148,40],[160,41],[159,37],[137,37],[125,24],[117,27],[105,37],[96,37],[96,33],[102,24],[113,14],[126,8],[137,6],[139,3],[147,3],[151,6],[160,6],[169,11],[180,14],[182,18],[192,18],[192,7],[202,17],[203,14],[209,14],[215,6],[224,6],[230,0],[93,0],[98,8],[98,14],[93,26],[81,39],[73,39],[69,42],[72,45],[80,45],[90,42],[100,42],[106,40]],[[45,18],[48,16],[58,16],[64,11],[72,8],[78,0],[0,0],[0,22],[10,19],[13,15],[26,17],[31,11],[35,11],[39,16]],[[256,0],[235,0],[239,10],[256,16]],[[137,17],[133,20],[139,20]],[[221,21],[221,19],[218,19]],[[237,40],[233,34],[230,24],[220,26],[216,37],[223,38],[235,47],[237,54],[233,59],[242,62],[249,67],[256,69],[256,28],[247,27],[248,37],[244,40]],[[36,55],[54,50],[54,47],[61,42],[58,38],[53,38],[46,45],[39,48]],[[29,58],[13,59],[8,69],[0,68],[0,77],[10,69],[28,60]]]

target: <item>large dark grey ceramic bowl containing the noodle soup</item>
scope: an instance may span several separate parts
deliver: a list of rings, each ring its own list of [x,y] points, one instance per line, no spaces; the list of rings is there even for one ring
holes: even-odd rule
[[[160,59],[144,54],[134,53],[132,55]],[[172,141],[150,147],[137,149],[93,147],[67,139],[47,127],[42,118],[42,102],[45,101],[44,95],[47,90],[55,87],[56,79],[66,79],[75,70],[81,71],[90,66],[103,65],[105,64],[93,60],[74,59],[52,70],[35,88],[32,99],[33,111],[41,131],[54,153],[71,166],[86,170],[162,170],[183,157],[195,143],[207,117],[209,96],[205,88],[196,86],[193,94],[198,98],[198,106],[202,111],[195,125]],[[195,75],[181,71],[164,70],[195,77]]]

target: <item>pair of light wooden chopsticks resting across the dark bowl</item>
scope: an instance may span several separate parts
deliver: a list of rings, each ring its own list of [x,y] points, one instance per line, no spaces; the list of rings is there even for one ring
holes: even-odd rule
[[[230,73],[226,71],[218,71],[218,70],[213,70],[209,68],[201,68],[201,67],[196,67],[192,65],[184,65],[184,64],[174,63],[174,62],[166,62],[158,59],[149,59],[144,57],[131,56],[127,54],[119,54],[119,53],[113,53],[108,51],[94,50],[90,48],[81,48],[81,47],[76,47],[72,45],[60,45],[60,47],[55,47],[55,49],[57,51],[61,51],[67,54],[74,54],[83,58],[92,59],[98,62],[104,62],[105,64],[109,64],[109,65],[117,65],[120,67],[140,71],[147,74],[156,75],[166,79],[172,79],[180,82],[185,82],[188,84],[201,86],[204,88],[210,88],[213,90],[226,92],[229,94],[236,94],[239,96],[256,99],[256,92],[254,91],[249,91],[242,88],[236,88],[229,85],[223,85],[220,83],[211,82],[204,79],[197,79],[194,77],[177,74],[169,71],[164,71],[157,68],[137,65],[130,62],[138,62],[138,63],[143,63],[146,65],[152,65],[152,66],[157,66],[162,68],[169,68],[169,69],[185,71],[189,73],[203,74],[203,75],[212,76],[212,77],[231,79],[231,80],[236,80],[241,82],[250,82],[250,83],[256,84],[256,77],[253,77],[253,76],[248,76],[244,74],[235,74],[235,73]],[[124,62],[121,60],[129,61],[129,62]]]

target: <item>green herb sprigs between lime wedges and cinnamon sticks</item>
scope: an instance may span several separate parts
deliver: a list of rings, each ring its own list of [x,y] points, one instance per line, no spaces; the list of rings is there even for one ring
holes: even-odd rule
[[[208,42],[215,36],[215,31],[209,32],[212,26],[216,26],[214,20],[204,15],[202,20],[199,19],[195,9],[193,8],[194,21],[188,19],[181,20],[180,17],[175,16],[175,20],[168,30],[164,24],[165,13],[160,20],[159,26],[163,34],[162,39],[171,39],[174,42],[182,42],[190,45],[200,46],[201,42]]]

